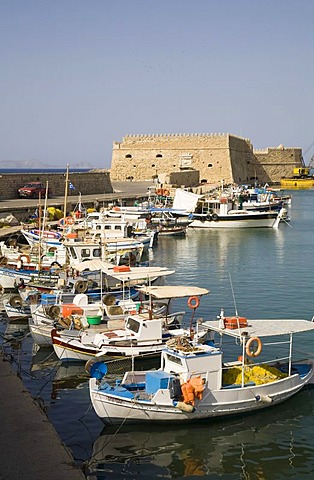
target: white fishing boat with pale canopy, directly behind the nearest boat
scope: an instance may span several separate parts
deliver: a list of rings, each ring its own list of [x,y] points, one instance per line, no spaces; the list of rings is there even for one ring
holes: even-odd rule
[[[195,299],[196,304],[189,303],[193,310],[189,326],[182,326],[183,311],[156,316],[152,310],[148,310],[128,315],[126,320],[120,320],[116,328],[102,328],[98,331],[87,329],[72,338],[53,329],[52,344],[58,358],[61,361],[88,361],[95,357],[156,356],[171,338],[193,335],[200,341],[205,340],[207,329],[197,322],[194,325],[194,314],[199,305],[199,297],[207,295],[208,290],[183,286],[146,286],[140,291],[148,294],[150,301],[168,299],[169,302],[187,296],[187,292],[189,295],[192,293],[191,298]]]

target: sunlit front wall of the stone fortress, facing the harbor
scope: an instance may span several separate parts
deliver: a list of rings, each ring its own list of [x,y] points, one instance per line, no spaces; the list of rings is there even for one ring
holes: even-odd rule
[[[229,134],[126,136],[113,144],[111,178],[147,180],[158,173],[195,169],[200,178],[219,182],[222,172],[232,181]],[[243,142],[243,139],[239,139]],[[245,141],[244,141],[245,142]]]

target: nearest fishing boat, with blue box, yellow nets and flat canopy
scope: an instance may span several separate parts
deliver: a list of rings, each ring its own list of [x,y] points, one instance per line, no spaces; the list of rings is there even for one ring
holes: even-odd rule
[[[94,363],[89,390],[101,420],[169,425],[252,413],[287,400],[313,376],[312,361],[292,359],[292,340],[313,331],[314,322],[248,320],[221,312],[203,325],[210,340],[168,342],[159,370],[127,371],[111,383],[106,363]]]

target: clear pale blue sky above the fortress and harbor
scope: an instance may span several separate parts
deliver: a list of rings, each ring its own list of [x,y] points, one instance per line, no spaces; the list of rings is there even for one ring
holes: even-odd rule
[[[1,0],[0,167],[110,168],[127,134],[314,155],[313,0]]]

